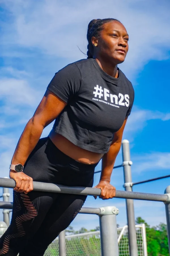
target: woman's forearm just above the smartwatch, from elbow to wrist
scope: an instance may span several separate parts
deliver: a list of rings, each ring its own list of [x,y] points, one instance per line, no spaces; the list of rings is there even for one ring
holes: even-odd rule
[[[36,118],[31,118],[18,141],[11,164],[24,165],[29,154],[38,143],[44,127]]]

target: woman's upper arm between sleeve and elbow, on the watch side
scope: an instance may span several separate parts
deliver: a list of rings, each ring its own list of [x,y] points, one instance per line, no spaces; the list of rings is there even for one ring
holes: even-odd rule
[[[66,102],[47,89],[33,115],[33,121],[46,127],[58,117],[66,105]]]

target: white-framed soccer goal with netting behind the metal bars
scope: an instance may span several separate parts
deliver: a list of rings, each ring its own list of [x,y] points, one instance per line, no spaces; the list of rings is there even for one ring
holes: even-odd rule
[[[117,228],[119,255],[129,256],[128,226]],[[145,224],[136,225],[138,256],[147,256]],[[66,236],[67,256],[101,256],[100,231]],[[58,238],[46,250],[44,256],[59,256]]]

